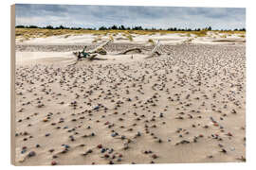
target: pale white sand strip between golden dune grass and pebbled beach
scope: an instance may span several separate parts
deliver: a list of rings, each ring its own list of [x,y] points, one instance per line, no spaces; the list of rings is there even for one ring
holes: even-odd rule
[[[180,44],[184,42],[190,43],[243,43],[246,41],[246,37],[244,34],[231,34],[228,33],[217,33],[209,31],[206,36],[198,37],[194,34],[188,33],[172,33],[172,34],[149,34],[149,35],[138,35],[138,34],[130,34],[132,37],[132,41],[127,38],[126,34],[118,33],[107,34],[107,35],[93,35],[93,34],[81,34],[81,35],[60,35],[60,36],[50,36],[47,38],[31,38],[27,41],[22,41],[21,39],[17,39],[17,44],[92,44],[99,43],[109,40],[110,36],[113,38],[115,42],[119,43],[133,43],[133,44],[151,44],[149,40],[153,42],[157,42],[158,40],[162,44]],[[221,41],[229,41],[229,42],[218,42]]]

